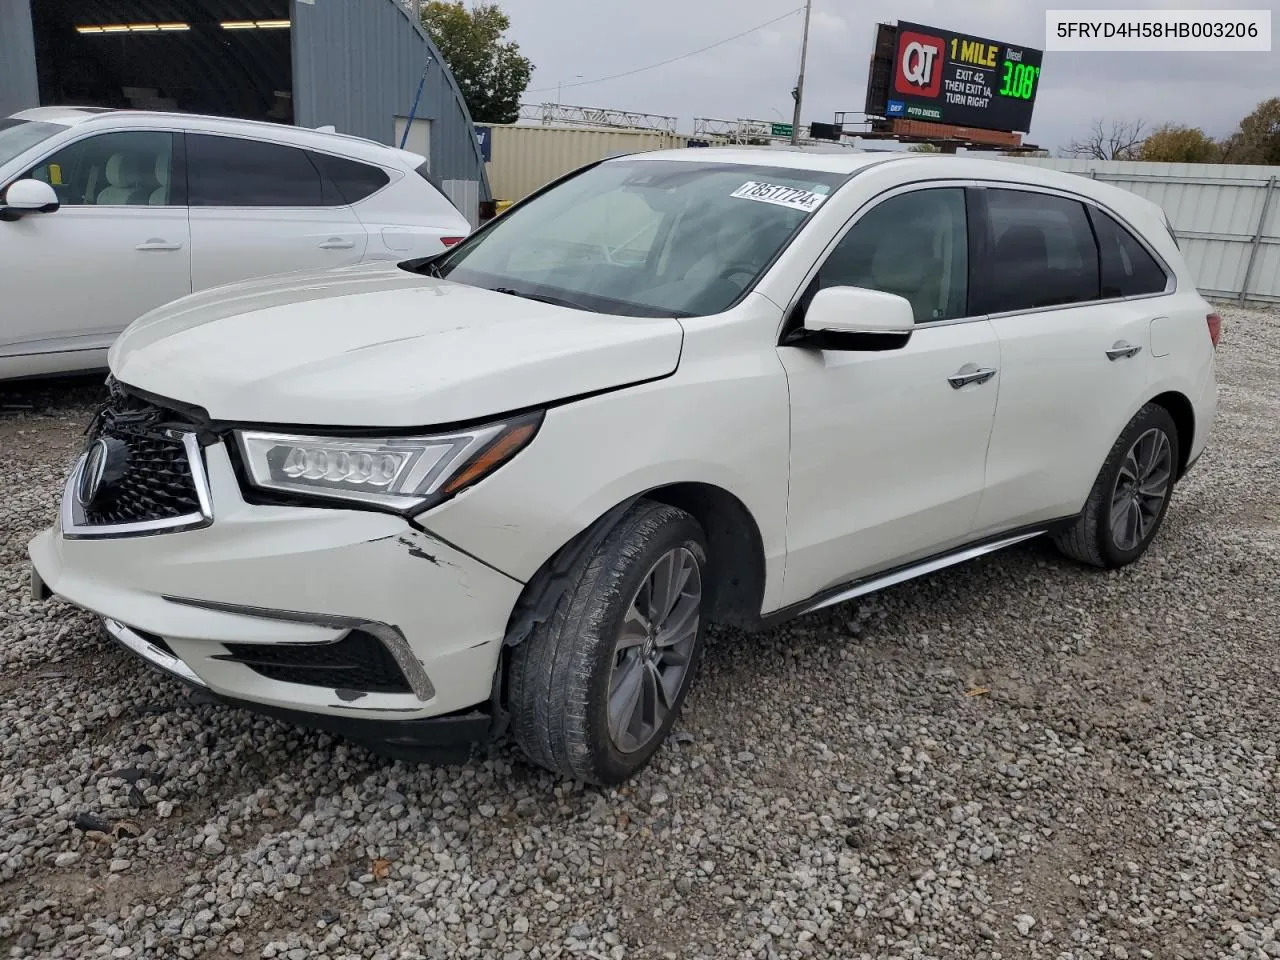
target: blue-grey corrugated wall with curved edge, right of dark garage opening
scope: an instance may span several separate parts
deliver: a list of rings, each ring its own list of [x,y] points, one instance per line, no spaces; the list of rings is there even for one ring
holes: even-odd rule
[[[431,123],[431,173],[474,180],[480,198],[492,196],[457,84],[397,0],[293,0],[292,15],[294,123],[332,123],[342,133],[398,146],[396,116],[408,115],[430,58],[416,118]]]

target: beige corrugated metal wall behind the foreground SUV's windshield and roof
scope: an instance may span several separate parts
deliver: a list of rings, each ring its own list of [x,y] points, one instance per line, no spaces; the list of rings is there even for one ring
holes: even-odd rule
[[[612,154],[689,146],[687,137],[658,131],[590,127],[495,125],[490,143],[489,186],[498,200],[522,200],[566,173]]]

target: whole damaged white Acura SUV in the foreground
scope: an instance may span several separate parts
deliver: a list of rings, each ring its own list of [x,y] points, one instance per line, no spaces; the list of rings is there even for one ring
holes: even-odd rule
[[[1138,559],[1219,329],[1161,210],[1080,177],[611,159],[435,257],[136,321],[32,589],[233,704],[616,783],[709,623],[1042,534]]]

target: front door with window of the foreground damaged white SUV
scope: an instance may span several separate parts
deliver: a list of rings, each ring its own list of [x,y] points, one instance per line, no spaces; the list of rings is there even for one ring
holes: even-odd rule
[[[891,351],[778,348],[791,392],[783,603],[970,535],[1000,347],[986,317],[972,315],[968,261],[964,189],[913,189],[860,216],[806,291],[806,300],[833,285],[896,293],[911,302],[916,329]],[[957,379],[966,374],[978,375]]]

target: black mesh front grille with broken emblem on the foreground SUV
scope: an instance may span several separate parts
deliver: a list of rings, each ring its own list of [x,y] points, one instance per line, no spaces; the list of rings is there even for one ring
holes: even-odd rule
[[[116,394],[90,429],[90,447],[115,448],[99,493],[82,507],[83,525],[148,524],[198,515],[196,480],[183,434],[191,425],[152,403]]]

